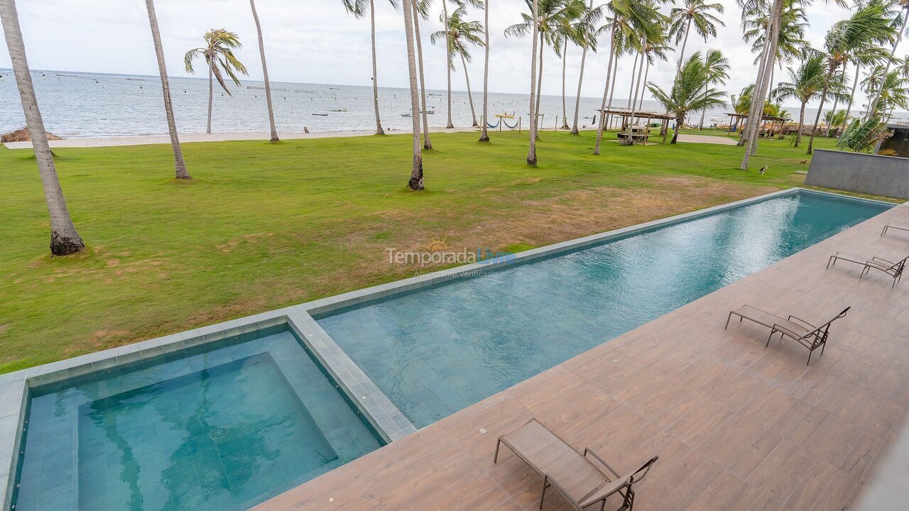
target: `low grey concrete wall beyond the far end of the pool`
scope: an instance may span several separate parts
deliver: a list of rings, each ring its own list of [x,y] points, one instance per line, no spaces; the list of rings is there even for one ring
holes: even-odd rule
[[[909,158],[815,149],[804,184],[909,199]]]

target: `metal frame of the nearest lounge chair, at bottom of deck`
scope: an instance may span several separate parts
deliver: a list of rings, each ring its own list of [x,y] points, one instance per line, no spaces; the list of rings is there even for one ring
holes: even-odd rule
[[[542,427],[546,432],[548,432],[548,434],[552,436],[552,442],[561,443],[564,446],[567,446],[569,449],[571,449],[571,451],[573,451],[575,455],[582,458],[584,460],[584,462],[586,462],[587,464],[592,466],[597,472],[602,474],[603,481],[600,482],[600,484],[594,486],[586,494],[584,494],[584,496],[581,496],[580,498],[575,498],[574,496],[572,496],[571,493],[565,489],[564,481],[560,482],[560,481],[556,480],[553,476],[551,476],[549,474],[547,467],[536,466],[530,459],[528,459],[527,456],[524,456],[524,453],[521,452],[521,449],[518,448],[518,446],[515,446],[514,443],[509,441],[508,436],[514,436],[516,434],[519,434],[522,430],[524,430],[524,428],[531,426],[532,424],[534,426]],[[527,466],[530,466],[531,468],[533,468],[534,472],[536,472],[537,474],[539,474],[540,476],[543,477],[543,491],[540,494],[540,509],[543,509],[543,500],[546,496],[546,490],[550,486],[555,486],[555,489],[559,490],[559,493],[561,493],[565,498],[567,498],[568,501],[571,502],[572,506],[574,506],[574,509],[576,509],[578,511],[583,511],[584,508],[594,506],[597,503],[600,504],[600,511],[604,511],[604,507],[606,506],[606,499],[609,498],[610,496],[613,496],[616,493],[619,494],[620,496],[622,496],[622,506],[619,506],[615,511],[632,511],[632,509],[634,507],[634,489],[633,489],[634,484],[639,483],[642,479],[644,479],[644,476],[647,475],[647,472],[650,471],[650,468],[654,465],[656,460],[659,459],[659,457],[660,457],[660,456],[654,456],[650,460],[648,460],[646,463],[644,463],[644,465],[642,465],[640,468],[634,470],[634,472],[627,474],[625,476],[619,476],[618,472],[616,472],[612,466],[609,466],[609,464],[607,464],[602,457],[597,456],[597,454],[594,453],[593,450],[591,450],[589,448],[584,448],[584,454],[577,452],[574,449],[574,447],[572,447],[568,442],[565,442],[561,436],[556,435],[553,430],[544,426],[542,423],[540,423],[535,418],[530,419],[529,421],[524,423],[524,426],[521,426],[520,428],[514,430],[512,433],[505,434],[503,436],[498,437],[498,439],[495,442],[495,455],[493,457],[493,463],[496,463],[498,461],[499,447],[502,444],[504,444],[505,446],[508,446],[508,448],[511,449],[511,451],[514,453],[515,456],[518,456],[519,458],[524,460],[524,463],[526,463]],[[607,474],[606,472],[604,472],[604,470],[602,468],[600,468],[599,466],[596,466],[594,464],[594,462],[591,461],[590,458],[587,457],[588,454],[590,456],[593,456],[596,461],[598,461],[606,469],[608,469],[610,474]],[[615,478],[613,479],[612,477],[615,477]]]

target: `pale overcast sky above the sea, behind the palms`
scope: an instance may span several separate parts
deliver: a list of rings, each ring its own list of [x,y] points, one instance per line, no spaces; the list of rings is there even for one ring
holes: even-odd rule
[[[726,6],[722,15],[725,26],[719,35],[704,43],[689,41],[686,54],[697,49],[716,47],[723,50],[731,64],[731,79],[726,89],[737,93],[752,83],[756,75],[754,55],[742,40],[739,21],[741,11],[734,0],[718,0]],[[155,75],[145,2],[142,0],[18,0],[19,18],[25,34],[29,63],[35,69],[92,71]],[[245,47],[240,59],[249,68],[250,78],[261,79],[262,70],[255,41],[255,25],[247,0],[155,0],[158,21],[170,75],[186,75],[183,54],[201,45],[207,29],[224,27],[240,35]],[[318,84],[369,85],[370,43],[368,19],[355,19],[346,13],[340,0],[257,0],[259,17],[265,32],[265,51],[273,81]],[[441,4],[436,1],[435,15],[422,25],[425,73],[429,88],[445,88],[445,56],[440,45],[429,44],[429,34],[439,30],[437,15]],[[490,90],[526,93],[529,90],[529,38],[506,38],[504,28],[520,20],[523,0],[493,0],[490,11],[491,55]],[[664,7],[668,13],[669,7]],[[847,11],[823,1],[807,9],[810,28],[808,39],[821,45],[830,25],[847,15]],[[482,11],[472,11],[468,19],[483,19]],[[400,10],[377,0],[376,31],[379,62],[379,85],[407,86],[407,64],[404,19]],[[603,39],[606,37],[604,36]],[[9,54],[0,41],[0,67],[9,67]],[[604,46],[601,46],[604,47]],[[909,46],[903,45],[897,55]],[[474,49],[469,65],[474,90],[482,89],[483,52]],[[583,95],[602,95],[605,75],[605,52],[588,58],[584,73]],[[568,91],[576,90],[580,50],[567,52]],[[630,73],[632,58],[625,57],[619,70]],[[649,81],[665,85],[674,74],[674,58],[651,69]],[[544,94],[561,94],[561,63],[552,51],[544,56]],[[777,81],[784,77],[777,72]],[[463,72],[458,68],[453,87],[464,89]],[[618,90],[618,89],[617,89]],[[622,94],[624,96],[626,93]],[[616,94],[618,95],[618,94]]]

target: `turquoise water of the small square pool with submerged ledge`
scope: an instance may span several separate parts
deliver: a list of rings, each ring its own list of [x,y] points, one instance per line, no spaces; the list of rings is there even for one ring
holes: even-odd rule
[[[246,509],[381,446],[286,326],[32,390],[15,511]]]

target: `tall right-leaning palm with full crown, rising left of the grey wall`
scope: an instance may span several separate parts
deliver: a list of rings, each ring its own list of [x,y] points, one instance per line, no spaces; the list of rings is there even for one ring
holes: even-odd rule
[[[812,153],[814,136],[817,135],[817,125],[821,121],[821,112],[824,110],[824,98],[834,77],[838,75],[840,65],[848,61],[850,55],[856,50],[871,45],[892,41],[896,36],[896,29],[892,23],[892,15],[888,5],[873,1],[868,5],[859,7],[852,16],[834,24],[827,33],[824,43],[827,58],[827,74],[824,77],[824,89],[821,93],[821,104],[817,107],[814,118],[814,127],[811,138],[808,139],[808,153]],[[837,87],[838,88],[838,87]],[[834,89],[835,90],[835,89]]]

